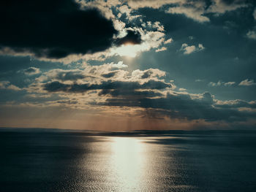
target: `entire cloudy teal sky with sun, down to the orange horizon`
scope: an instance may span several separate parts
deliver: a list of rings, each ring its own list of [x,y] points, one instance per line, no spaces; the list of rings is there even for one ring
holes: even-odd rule
[[[256,126],[256,1],[3,0],[0,126]]]

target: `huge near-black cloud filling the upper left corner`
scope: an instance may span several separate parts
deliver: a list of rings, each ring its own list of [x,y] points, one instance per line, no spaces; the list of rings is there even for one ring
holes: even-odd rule
[[[117,31],[96,9],[72,0],[0,1],[0,48],[30,51],[39,57],[105,50]]]

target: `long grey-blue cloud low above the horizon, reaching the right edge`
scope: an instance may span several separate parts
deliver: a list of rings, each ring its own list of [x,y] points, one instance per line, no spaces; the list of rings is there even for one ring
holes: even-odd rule
[[[135,98],[123,96],[122,98],[107,99],[99,105],[120,107],[142,107],[151,110],[151,118],[168,116],[170,118],[206,121],[244,121],[255,118],[255,112],[238,111],[235,109],[214,107],[211,93],[203,93],[203,98],[192,99],[189,94],[170,94],[162,98]]]

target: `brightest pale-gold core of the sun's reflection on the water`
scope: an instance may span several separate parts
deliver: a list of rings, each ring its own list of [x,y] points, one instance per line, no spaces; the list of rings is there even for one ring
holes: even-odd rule
[[[137,191],[143,177],[143,143],[140,139],[115,137],[111,149],[111,169],[118,188]]]

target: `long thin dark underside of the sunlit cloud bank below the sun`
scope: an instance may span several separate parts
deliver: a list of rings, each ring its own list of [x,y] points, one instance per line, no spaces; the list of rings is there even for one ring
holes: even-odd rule
[[[139,82],[124,82],[124,81],[104,81],[100,84],[77,84],[71,85],[61,83],[59,81],[48,82],[44,85],[44,90],[49,92],[69,92],[83,93],[90,90],[136,90],[136,89],[164,89],[171,88],[170,83],[162,81],[149,80],[140,84]]]

